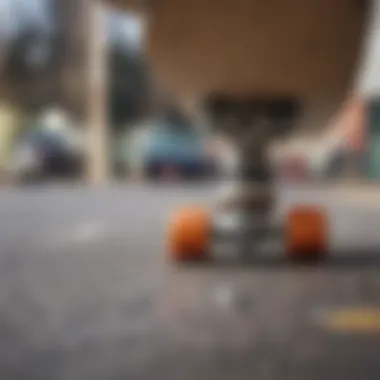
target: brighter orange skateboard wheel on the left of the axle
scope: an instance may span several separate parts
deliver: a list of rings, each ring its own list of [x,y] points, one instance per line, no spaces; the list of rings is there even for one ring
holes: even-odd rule
[[[211,241],[211,216],[200,207],[177,212],[169,225],[169,253],[175,261],[207,258]]]

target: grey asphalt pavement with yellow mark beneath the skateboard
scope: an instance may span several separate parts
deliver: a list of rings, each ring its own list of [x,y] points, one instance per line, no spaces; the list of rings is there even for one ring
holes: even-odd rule
[[[168,215],[213,190],[0,190],[0,378],[379,379],[380,201],[279,190],[280,214],[320,202],[351,248],[322,265],[171,265]]]

